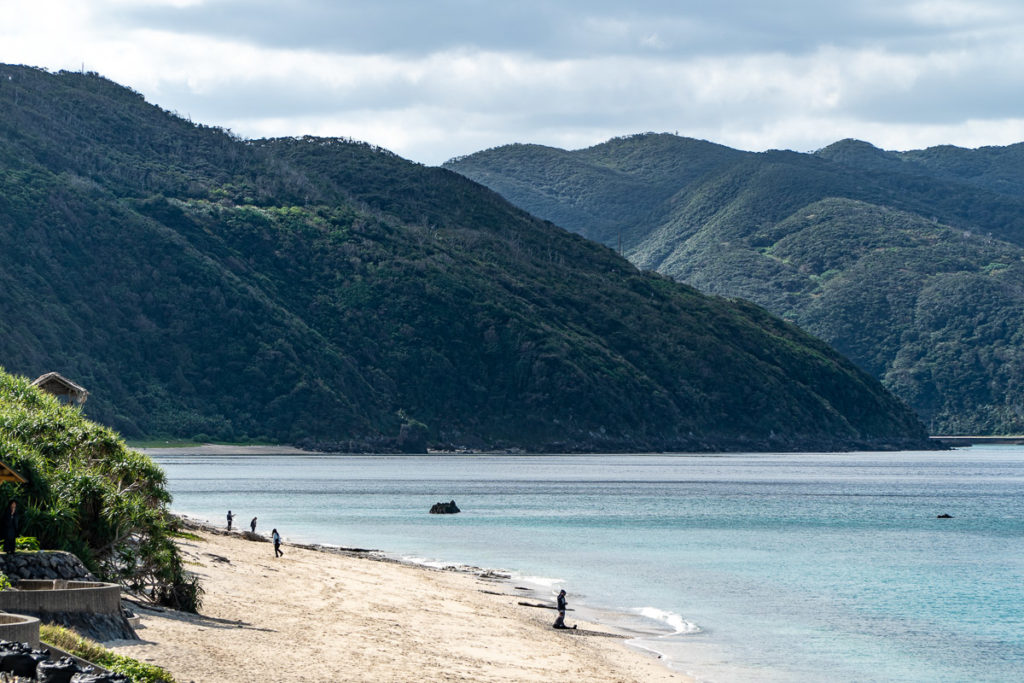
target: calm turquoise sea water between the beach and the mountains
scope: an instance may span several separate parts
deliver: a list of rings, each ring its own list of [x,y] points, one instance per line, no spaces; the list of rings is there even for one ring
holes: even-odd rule
[[[565,588],[701,681],[1024,681],[1024,447],[150,455],[177,512]]]

